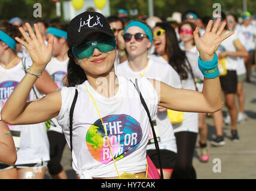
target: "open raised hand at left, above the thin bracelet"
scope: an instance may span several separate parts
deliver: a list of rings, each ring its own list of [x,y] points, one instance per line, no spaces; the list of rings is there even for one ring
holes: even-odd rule
[[[22,27],[19,27],[25,41],[16,37],[16,41],[22,44],[28,50],[33,61],[32,67],[38,68],[41,72],[45,69],[47,63],[51,60],[53,54],[53,37],[48,40],[48,47],[45,45],[39,32],[38,25],[34,24],[35,33],[29,23],[25,24],[28,27],[29,36]]]

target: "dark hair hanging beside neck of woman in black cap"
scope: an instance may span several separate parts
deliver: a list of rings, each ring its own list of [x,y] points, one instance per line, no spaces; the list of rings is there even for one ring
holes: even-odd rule
[[[83,84],[87,80],[84,70],[74,61],[74,55],[72,53],[72,47],[68,50],[68,87],[75,87],[75,85]]]

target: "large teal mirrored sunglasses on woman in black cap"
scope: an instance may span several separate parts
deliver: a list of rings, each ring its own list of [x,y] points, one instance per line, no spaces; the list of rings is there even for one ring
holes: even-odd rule
[[[76,58],[84,59],[92,57],[95,48],[101,53],[108,53],[114,50],[116,47],[115,38],[104,36],[102,38],[96,38],[91,41],[83,42],[77,47],[72,47],[72,53]]]

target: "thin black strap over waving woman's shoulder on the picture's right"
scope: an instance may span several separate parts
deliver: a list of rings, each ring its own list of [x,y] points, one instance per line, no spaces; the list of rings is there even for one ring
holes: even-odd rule
[[[130,80],[132,82],[132,80]],[[133,83],[133,82],[132,82]],[[136,84],[136,85],[135,85]],[[163,179],[163,169],[161,167],[161,156],[160,156],[160,149],[159,149],[159,143],[157,141],[157,135],[156,135],[156,132],[154,130],[154,125],[153,125],[153,122],[152,122],[152,119],[151,119],[151,116],[150,116],[150,111],[148,110],[148,106],[147,104],[145,103],[145,100],[144,98],[142,97],[142,94],[141,94],[141,91],[139,90],[139,86],[138,86],[138,79],[136,78],[135,79],[135,84],[133,83],[133,85],[135,86],[136,90],[138,91],[139,93],[139,98],[141,98],[141,103],[142,105],[144,106],[146,112],[147,112],[147,115],[148,115],[148,119],[150,119],[150,125],[151,125],[151,128],[152,128],[152,133],[153,133],[153,137],[154,137],[154,143],[155,143],[155,147],[156,147],[156,151],[157,151],[157,158],[159,159],[159,165],[160,165],[160,177],[161,179]]]

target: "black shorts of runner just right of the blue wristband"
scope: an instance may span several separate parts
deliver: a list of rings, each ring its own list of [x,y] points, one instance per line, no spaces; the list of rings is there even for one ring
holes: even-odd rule
[[[220,76],[220,81],[225,94],[236,94],[237,75],[235,70],[227,70],[227,75]]]

